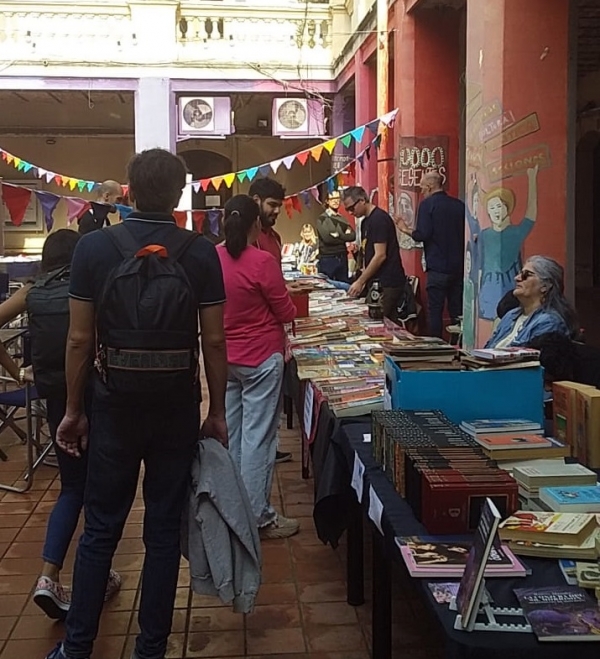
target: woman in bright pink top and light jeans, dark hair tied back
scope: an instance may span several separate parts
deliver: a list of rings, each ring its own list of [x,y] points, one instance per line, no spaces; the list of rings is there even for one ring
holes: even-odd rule
[[[225,281],[225,338],[229,372],[226,414],[236,461],[261,537],[286,538],[299,523],[270,502],[281,414],[284,324],[296,316],[279,263],[254,247],[259,209],[247,195],[225,204],[225,242],[217,247]]]

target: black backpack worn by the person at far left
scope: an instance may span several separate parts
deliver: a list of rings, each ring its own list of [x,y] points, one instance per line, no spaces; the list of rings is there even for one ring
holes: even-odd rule
[[[65,352],[69,333],[70,266],[39,278],[27,293],[31,364],[42,398],[66,395]]]

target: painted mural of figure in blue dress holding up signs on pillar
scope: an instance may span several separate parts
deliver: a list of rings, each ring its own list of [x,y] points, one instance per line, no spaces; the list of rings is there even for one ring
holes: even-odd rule
[[[539,179],[551,166],[539,141],[537,112],[518,116],[495,99],[467,88],[467,211],[463,344],[482,345],[497,321],[500,300],[515,286],[523,248],[535,232]]]

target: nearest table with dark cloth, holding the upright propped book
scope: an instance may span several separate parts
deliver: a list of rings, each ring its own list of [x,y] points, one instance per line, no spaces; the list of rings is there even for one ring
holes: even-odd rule
[[[415,518],[412,509],[400,497],[393,484],[382,472],[372,456],[371,445],[363,436],[371,432],[370,423],[354,423],[341,426],[331,442],[345,457],[345,464],[338,464],[339,478],[345,478],[350,488],[355,454],[365,466],[363,502],[358,504],[356,495],[349,503],[346,516],[348,526],[348,602],[363,601],[363,547],[362,528],[364,512],[368,512],[369,488],[372,487],[383,504],[381,527],[383,535],[371,523],[373,535],[373,659],[388,659],[391,654],[391,566],[392,561],[404,565],[395,537],[426,534],[425,527]],[[342,473],[343,472],[343,476]],[[354,492],[352,490],[352,492]],[[517,607],[514,588],[537,588],[564,585],[564,577],[555,560],[524,559],[531,575],[523,578],[486,580],[494,606]],[[463,632],[454,629],[456,613],[449,606],[437,604],[428,583],[435,579],[416,579],[416,586],[424,598],[426,608],[440,623],[445,638],[447,659],[564,659],[576,652],[578,659],[598,657],[595,643],[540,643],[533,633],[518,632]],[[437,581],[444,581],[438,579]],[[447,579],[446,579],[447,581]]]

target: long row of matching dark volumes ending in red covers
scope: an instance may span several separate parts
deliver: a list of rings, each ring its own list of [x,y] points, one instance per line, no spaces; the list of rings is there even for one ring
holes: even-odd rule
[[[373,412],[371,437],[375,459],[431,533],[472,532],[486,497],[504,515],[518,507],[510,474],[439,411]]]

